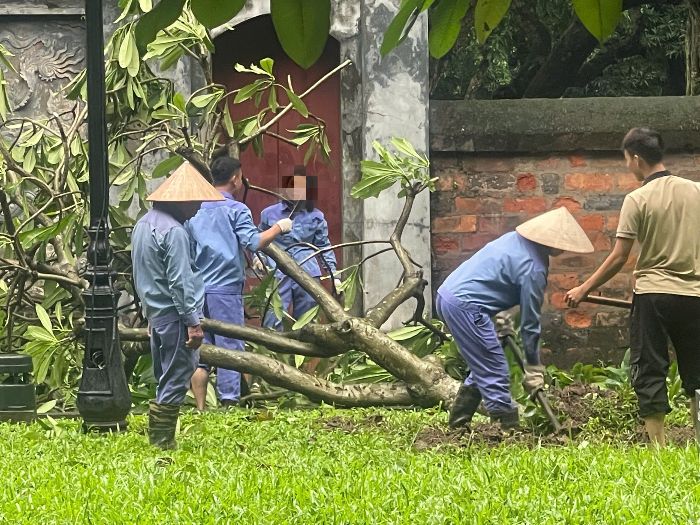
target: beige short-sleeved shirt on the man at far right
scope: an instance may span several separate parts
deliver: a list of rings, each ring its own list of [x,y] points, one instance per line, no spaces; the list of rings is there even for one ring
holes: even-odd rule
[[[631,192],[618,236],[635,234],[636,293],[700,296],[700,184],[666,175]]]

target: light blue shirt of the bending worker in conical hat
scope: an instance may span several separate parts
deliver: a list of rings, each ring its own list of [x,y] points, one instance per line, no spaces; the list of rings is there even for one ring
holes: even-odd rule
[[[548,273],[549,249],[510,232],[464,261],[445,279],[438,294],[480,306],[489,316],[520,305],[525,354],[530,364],[538,364]]]

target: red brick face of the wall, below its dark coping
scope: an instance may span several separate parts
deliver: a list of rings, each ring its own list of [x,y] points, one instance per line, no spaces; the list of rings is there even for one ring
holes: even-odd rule
[[[566,206],[596,252],[552,260],[543,310],[548,362],[618,361],[627,346],[627,312],[592,305],[571,310],[563,295],[607,256],[622,200],[639,185],[622,155],[433,154],[431,162],[433,176],[439,177],[431,200],[433,289],[487,242],[534,215]],[[676,175],[700,180],[700,155],[671,155],[666,165]],[[604,295],[631,297],[635,259],[601,289]]]

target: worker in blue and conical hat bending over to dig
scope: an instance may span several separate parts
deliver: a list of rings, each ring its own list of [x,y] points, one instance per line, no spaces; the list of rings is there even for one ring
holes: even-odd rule
[[[549,258],[564,251],[590,253],[593,245],[566,208],[519,225],[462,263],[438,289],[436,308],[452,333],[469,375],[450,410],[453,428],[471,423],[480,402],[504,429],[517,427],[517,404],[492,317],[520,306],[526,365],[523,386],[534,394],[544,387],[540,361],[540,312]]]

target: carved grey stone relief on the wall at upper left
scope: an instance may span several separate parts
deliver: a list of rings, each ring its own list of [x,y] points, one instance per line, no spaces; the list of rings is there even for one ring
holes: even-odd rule
[[[17,72],[6,75],[17,116],[48,116],[73,107],[60,91],[83,68],[84,42],[84,24],[77,18],[0,16],[0,44],[15,55],[10,61]]]

